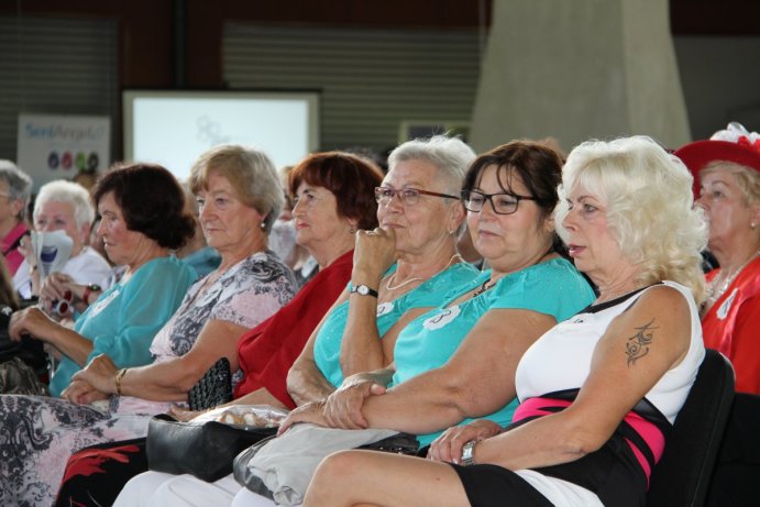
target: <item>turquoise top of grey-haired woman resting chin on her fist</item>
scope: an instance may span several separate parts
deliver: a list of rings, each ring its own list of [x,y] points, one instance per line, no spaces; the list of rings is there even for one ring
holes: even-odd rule
[[[395,266],[394,266],[395,267]],[[377,332],[383,337],[388,329],[412,308],[437,308],[452,287],[459,287],[474,279],[480,272],[469,263],[459,263],[420,284],[414,290],[377,306]],[[343,331],[349,317],[349,301],[337,306],[319,329],[315,340],[315,362],[330,384],[338,387],[343,383],[340,365]]]

